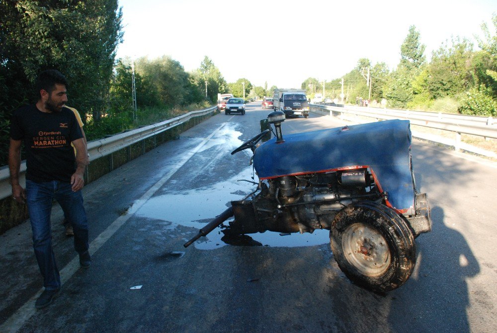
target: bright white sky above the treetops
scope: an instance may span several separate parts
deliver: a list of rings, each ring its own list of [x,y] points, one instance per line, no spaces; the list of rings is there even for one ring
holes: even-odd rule
[[[425,55],[452,37],[482,36],[497,0],[119,0],[117,57],[170,56],[186,71],[205,56],[227,82],[300,88],[340,78],[361,58],[395,69],[414,25]],[[476,42],[475,42],[475,48]]]

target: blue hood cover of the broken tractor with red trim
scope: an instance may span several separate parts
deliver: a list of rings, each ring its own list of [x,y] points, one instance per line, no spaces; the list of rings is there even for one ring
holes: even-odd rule
[[[254,151],[259,179],[368,167],[376,185],[398,211],[414,207],[411,129],[407,120],[388,120],[283,135]]]

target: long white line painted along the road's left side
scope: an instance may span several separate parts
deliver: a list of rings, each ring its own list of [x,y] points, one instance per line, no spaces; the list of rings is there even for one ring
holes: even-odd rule
[[[233,116],[232,116],[233,117]],[[230,118],[231,119],[231,118]],[[188,162],[190,158],[195,155],[197,151],[202,148],[216,133],[218,133],[225,124],[223,123],[219,128],[212,132],[209,136],[200,142],[195,148],[185,153],[183,158],[176,163],[154,186],[152,186],[140,199],[135,201],[135,204],[130,208],[126,215],[121,215],[110,224],[107,229],[105,229],[98,237],[96,237],[89,245],[89,253],[93,255],[100,249],[100,247],[105,244],[105,242],[115,234],[119,228],[128,221],[128,219],[136,212],[141,206],[147,202],[168,180],[171,178],[176,171],[179,170],[183,165]],[[79,257],[76,256],[69,264],[67,264],[60,271],[61,283],[64,285],[77,271],[80,269]],[[91,268],[90,268],[91,269]],[[25,322],[29,320],[35,313],[36,309],[34,307],[34,302],[43,292],[43,288],[38,290],[38,292],[33,295],[23,306],[21,306],[12,316],[10,316],[5,322],[0,325],[0,332],[2,333],[14,333],[17,332]],[[60,294],[59,294],[60,295]]]

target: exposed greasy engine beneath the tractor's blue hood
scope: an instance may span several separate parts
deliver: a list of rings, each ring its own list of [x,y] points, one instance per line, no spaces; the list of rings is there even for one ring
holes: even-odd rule
[[[367,168],[283,176],[260,183],[260,192],[232,201],[235,220],[226,234],[313,232],[330,229],[334,216],[357,200],[381,200]]]

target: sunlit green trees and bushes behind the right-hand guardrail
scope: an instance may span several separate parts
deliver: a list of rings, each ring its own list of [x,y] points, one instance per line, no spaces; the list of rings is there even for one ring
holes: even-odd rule
[[[493,27],[481,26],[478,50],[467,38],[453,37],[433,51],[428,62],[421,36],[411,26],[393,71],[385,63],[373,65],[363,58],[343,77],[328,82],[310,77],[302,88],[313,97],[323,92],[324,84],[325,97],[341,102],[343,78],[344,103],[356,104],[360,98],[369,99],[370,106],[497,117],[497,14],[492,21]]]

